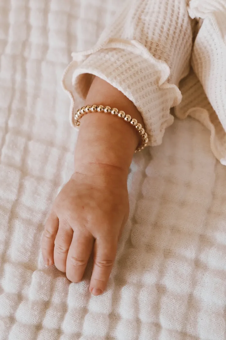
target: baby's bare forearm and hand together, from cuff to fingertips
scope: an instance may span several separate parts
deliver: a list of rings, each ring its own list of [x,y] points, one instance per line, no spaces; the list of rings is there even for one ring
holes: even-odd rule
[[[85,105],[117,107],[143,125],[136,106],[122,92],[95,77]],[[129,213],[127,175],[140,136],[132,125],[106,113],[81,118],[74,173],[58,194],[46,221],[42,255],[71,282],[82,280],[90,255],[89,290],[101,294],[111,273]]]

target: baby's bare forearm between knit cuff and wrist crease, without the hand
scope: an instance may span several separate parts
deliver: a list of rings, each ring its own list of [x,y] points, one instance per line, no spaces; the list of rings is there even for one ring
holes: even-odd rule
[[[122,92],[95,77],[86,105],[102,104],[117,107],[143,124],[136,106]],[[106,113],[89,113],[81,119],[75,149],[75,171],[82,171],[90,164],[119,168],[128,173],[132,156],[140,143],[136,129],[119,117]]]

